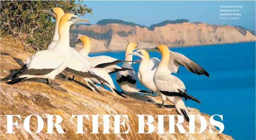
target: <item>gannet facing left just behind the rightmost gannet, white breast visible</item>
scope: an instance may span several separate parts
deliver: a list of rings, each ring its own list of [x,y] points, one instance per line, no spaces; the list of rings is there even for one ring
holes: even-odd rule
[[[150,89],[152,93],[157,93],[157,88],[153,81],[153,77],[160,60],[157,57],[149,57],[149,53],[143,49],[131,52],[128,55],[135,55],[141,58],[140,60],[135,60],[140,62],[138,69],[138,80],[142,85]]]

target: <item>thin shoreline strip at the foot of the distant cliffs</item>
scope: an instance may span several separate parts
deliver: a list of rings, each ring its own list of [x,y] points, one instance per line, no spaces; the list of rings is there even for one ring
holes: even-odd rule
[[[249,43],[249,42],[256,42],[256,40],[254,40],[254,41],[240,41],[240,42],[232,42],[232,43],[214,43],[214,44],[199,44],[199,45],[168,46],[168,48],[198,47],[198,46],[222,45],[222,44],[236,44],[236,43]],[[149,49],[149,48],[142,48],[142,49]],[[120,51],[125,51],[125,50],[114,50],[114,51],[94,51],[94,52],[90,52],[90,54],[93,54],[93,53],[102,53],[102,52],[120,52]]]

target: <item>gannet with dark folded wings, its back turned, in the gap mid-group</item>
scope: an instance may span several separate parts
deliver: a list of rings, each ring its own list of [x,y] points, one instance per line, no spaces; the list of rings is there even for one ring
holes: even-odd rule
[[[128,55],[129,53],[133,52],[133,50],[138,47],[137,43],[129,42],[126,46],[126,53],[125,53],[125,61],[132,61],[132,55]],[[123,68],[133,69],[132,62],[123,62]],[[119,71],[116,73],[116,81],[119,84],[120,88],[127,93],[151,93],[146,90],[141,90],[136,88],[137,82],[137,74],[134,71]]]

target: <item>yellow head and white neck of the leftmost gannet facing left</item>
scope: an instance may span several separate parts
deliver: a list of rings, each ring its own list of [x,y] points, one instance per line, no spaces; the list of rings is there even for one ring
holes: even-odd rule
[[[41,10],[40,12],[43,13],[49,13],[55,18],[55,30],[54,30],[54,35],[53,39],[48,46],[48,50],[52,49],[58,42],[59,40],[59,24],[60,24],[60,19],[61,17],[65,14],[64,11],[60,7],[55,7],[50,10]]]

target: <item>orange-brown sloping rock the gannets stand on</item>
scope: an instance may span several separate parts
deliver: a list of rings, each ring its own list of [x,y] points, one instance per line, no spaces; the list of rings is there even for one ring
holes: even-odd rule
[[[13,38],[1,38],[1,78],[17,71],[23,65],[23,62],[30,56],[24,52],[24,47],[15,44]],[[104,95],[96,94],[90,91],[84,82],[78,78],[74,82],[63,82],[62,75],[58,75],[56,82],[68,90],[63,93],[51,89],[44,79],[30,79],[24,82],[8,85],[1,81],[1,140],[232,140],[231,136],[225,134],[210,134],[209,123],[210,116],[201,113],[196,108],[188,107],[191,114],[200,114],[207,120],[207,128],[200,134],[157,134],[156,131],[150,134],[137,134],[138,117],[137,114],[148,114],[154,117],[152,123],[157,126],[156,114],[178,114],[175,107],[171,104],[166,108],[159,108],[160,97],[150,97],[138,94],[126,94],[127,98],[120,97],[110,91],[100,88]],[[6,133],[6,114],[20,114],[22,120],[30,114],[37,114],[44,120],[44,128],[38,134],[29,134],[23,128],[23,123],[18,121],[18,128],[13,127],[15,134]],[[61,122],[62,129],[66,134],[57,133],[45,134],[47,132],[46,114],[58,114],[63,118]],[[91,121],[84,119],[83,126],[85,134],[75,134],[77,130],[77,120],[70,121],[72,114],[127,114],[130,126],[128,134],[102,134],[103,126],[99,125],[100,134],[90,134],[92,131]],[[90,120],[92,118],[90,117]],[[102,117],[99,117],[102,122]],[[168,118],[164,120],[164,129],[168,131]],[[113,132],[113,117],[110,117],[110,132]],[[186,131],[189,130],[189,123],[182,123]],[[211,125],[213,128],[213,126]],[[196,132],[200,129],[200,122],[196,120]],[[37,119],[30,119],[30,130],[35,132],[37,129]],[[126,130],[121,127],[121,131]],[[145,128],[147,131],[148,128]],[[156,127],[157,129],[157,127]],[[217,129],[213,129],[217,132]],[[176,127],[176,132],[178,132]]]

